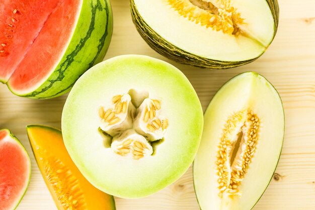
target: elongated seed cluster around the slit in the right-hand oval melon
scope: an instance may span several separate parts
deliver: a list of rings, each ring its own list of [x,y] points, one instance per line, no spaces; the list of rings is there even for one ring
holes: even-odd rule
[[[223,193],[241,195],[238,187],[255,154],[259,125],[259,118],[251,110],[239,111],[227,119],[216,160],[220,197]]]

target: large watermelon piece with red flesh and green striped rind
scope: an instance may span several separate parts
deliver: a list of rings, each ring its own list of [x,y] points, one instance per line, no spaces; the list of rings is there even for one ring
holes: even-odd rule
[[[0,82],[16,95],[62,95],[107,51],[113,25],[108,0],[2,4]]]

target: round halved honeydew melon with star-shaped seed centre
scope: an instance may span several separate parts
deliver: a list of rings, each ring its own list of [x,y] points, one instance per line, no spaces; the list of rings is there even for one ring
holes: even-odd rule
[[[62,112],[64,144],[97,188],[144,197],[189,168],[202,114],[179,69],[147,56],[118,56],[94,66],[73,86]]]

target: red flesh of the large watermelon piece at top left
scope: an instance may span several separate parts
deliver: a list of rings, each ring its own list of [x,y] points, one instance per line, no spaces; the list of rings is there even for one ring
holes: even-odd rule
[[[3,0],[0,80],[26,90],[46,80],[74,32],[82,1]]]

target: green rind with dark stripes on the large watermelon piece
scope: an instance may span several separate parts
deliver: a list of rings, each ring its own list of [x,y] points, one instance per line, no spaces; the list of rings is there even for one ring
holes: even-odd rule
[[[90,21],[87,21],[90,20]],[[96,63],[108,49],[113,28],[109,0],[83,0],[83,6],[71,41],[54,72],[40,87],[16,95],[34,99],[54,98],[68,92],[75,81]]]

